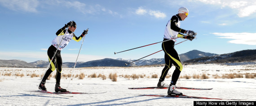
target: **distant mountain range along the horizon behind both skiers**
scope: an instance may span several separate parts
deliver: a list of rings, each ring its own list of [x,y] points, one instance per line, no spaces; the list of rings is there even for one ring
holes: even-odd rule
[[[215,53],[205,53],[199,50],[192,50],[187,53],[179,55],[181,61],[184,63],[216,63],[216,62],[234,62],[234,61],[255,61],[256,60],[256,50],[242,50],[234,53],[227,54],[215,54]],[[164,58],[152,58],[150,60],[124,60],[122,58],[111,59],[105,58],[101,60],[87,61],[87,62],[77,62],[76,68],[79,67],[95,67],[95,66],[140,66],[140,65],[157,65],[164,64]],[[129,62],[131,64],[125,65]],[[46,68],[49,65],[48,61],[35,61],[27,63],[21,60],[0,60],[0,67],[26,67],[26,68]],[[64,62],[62,64],[63,68],[73,68],[75,62]]]

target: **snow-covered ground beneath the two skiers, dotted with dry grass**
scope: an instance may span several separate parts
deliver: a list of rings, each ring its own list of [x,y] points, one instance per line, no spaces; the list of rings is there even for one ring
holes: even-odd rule
[[[61,86],[73,92],[103,94],[65,94],[74,97],[64,97],[56,94],[35,93],[28,90],[38,90],[41,77],[31,77],[32,73],[41,75],[46,69],[38,68],[6,68],[0,67],[0,106],[193,106],[194,101],[230,101],[215,99],[195,99],[195,98],[164,98],[146,97],[141,94],[167,94],[167,89],[161,90],[129,90],[130,87],[150,87],[156,86],[159,78],[151,78],[153,74],[160,76],[163,66],[145,67],[87,67],[76,69],[63,69],[62,74],[84,73],[86,77],[62,77]],[[169,71],[171,75],[174,66]],[[10,73],[11,76],[4,74]],[[23,77],[16,76],[24,74]],[[55,74],[56,71],[53,72]],[[107,78],[88,77],[96,73],[102,74]],[[112,82],[108,76],[110,73],[117,73],[117,82]],[[243,74],[244,78],[217,78],[229,73]],[[246,99],[243,101],[256,101],[256,78],[245,78],[245,73],[256,74],[256,64],[245,65],[225,65],[225,64],[201,64],[184,65],[181,76],[191,76],[190,79],[180,78],[177,86],[194,88],[213,88],[212,90],[178,90],[189,96],[199,96],[207,98],[229,98]],[[16,74],[16,75],[15,75]],[[29,74],[29,76],[27,76]],[[133,80],[124,78],[125,75],[145,75],[144,78]],[[208,79],[194,79],[193,75],[206,74]],[[171,77],[166,78],[165,82],[170,83]],[[51,77],[45,86],[48,91],[53,92],[55,79]]]

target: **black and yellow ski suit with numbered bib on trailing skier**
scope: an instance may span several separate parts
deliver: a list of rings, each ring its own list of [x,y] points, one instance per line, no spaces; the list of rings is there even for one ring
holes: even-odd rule
[[[76,37],[74,33],[72,33],[69,29],[66,29],[65,27],[63,27],[62,29],[59,29],[57,31],[56,35],[57,35],[57,37],[55,37],[55,39],[53,39],[52,45],[49,47],[49,49],[47,51],[47,54],[49,57],[49,62],[51,61],[56,50],[57,50],[57,53],[55,54],[55,56],[53,57],[53,60],[50,63],[50,68],[44,74],[42,82],[45,82],[47,77],[49,77],[49,75],[55,69],[57,69],[57,73],[55,76],[56,84],[60,84],[61,72],[62,72],[61,50],[66,47],[66,45],[71,41],[71,39],[73,39],[74,41],[80,41],[82,39],[83,35]]]

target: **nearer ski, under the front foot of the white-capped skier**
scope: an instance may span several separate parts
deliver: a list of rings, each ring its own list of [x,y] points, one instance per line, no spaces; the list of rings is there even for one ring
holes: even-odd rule
[[[245,100],[245,99],[226,99],[226,98],[205,98],[205,97],[195,97],[187,95],[140,95],[140,96],[154,96],[154,97],[172,97],[172,98],[199,98],[199,99],[218,99],[218,100]]]

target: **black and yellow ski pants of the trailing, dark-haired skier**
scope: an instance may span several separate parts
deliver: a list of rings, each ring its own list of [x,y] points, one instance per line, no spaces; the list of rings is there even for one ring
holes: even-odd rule
[[[56,48],[51,45],[47,51],[48,57],[49,57],[49,62],[51,61],[54,53],[56,52]],[[57,50],[57,53],[53,57],[53,61],[51,61],[50,68],[46,71],[42,81],[45,82],[47,77],[55,70],[57,69],[56,72],[56,84],[60,84],[61,80],[61,72],[62,72],[62,56],[61,56],[61,51]]]

